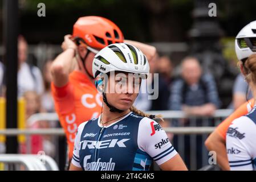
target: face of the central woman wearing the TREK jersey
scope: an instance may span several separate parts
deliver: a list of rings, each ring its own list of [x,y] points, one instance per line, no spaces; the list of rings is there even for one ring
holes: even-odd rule
[[[141,78],[132,73],[110,73],[105,89],[107,101],[120,110],[128,110],[139,93]]]

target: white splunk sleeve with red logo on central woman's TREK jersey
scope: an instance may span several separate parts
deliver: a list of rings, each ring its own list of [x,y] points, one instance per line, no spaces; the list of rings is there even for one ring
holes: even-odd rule
[[[160,124],[152,119],[141,119],[137,139],[140,150],[147,152],[158,165],[177,154]]]

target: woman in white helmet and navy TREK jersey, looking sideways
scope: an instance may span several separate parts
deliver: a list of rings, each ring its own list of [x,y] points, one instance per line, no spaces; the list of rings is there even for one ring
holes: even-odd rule
[[[187,170],[155,116],[132,106],[149,73],[143,53],[111,44],[97,53],[92,72],[103,92],[102,111],[78,127],[70,170],[149,170],[153,160],[162,170]]]

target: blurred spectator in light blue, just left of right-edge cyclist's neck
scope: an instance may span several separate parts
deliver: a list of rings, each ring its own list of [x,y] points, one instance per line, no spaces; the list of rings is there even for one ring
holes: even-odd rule
[[[235,110],[251,98],[253,98],[253,94],[245,81],[245,77],[240,73],[237,78],[235,78],[233,86],[233,101],[229,108]]]

